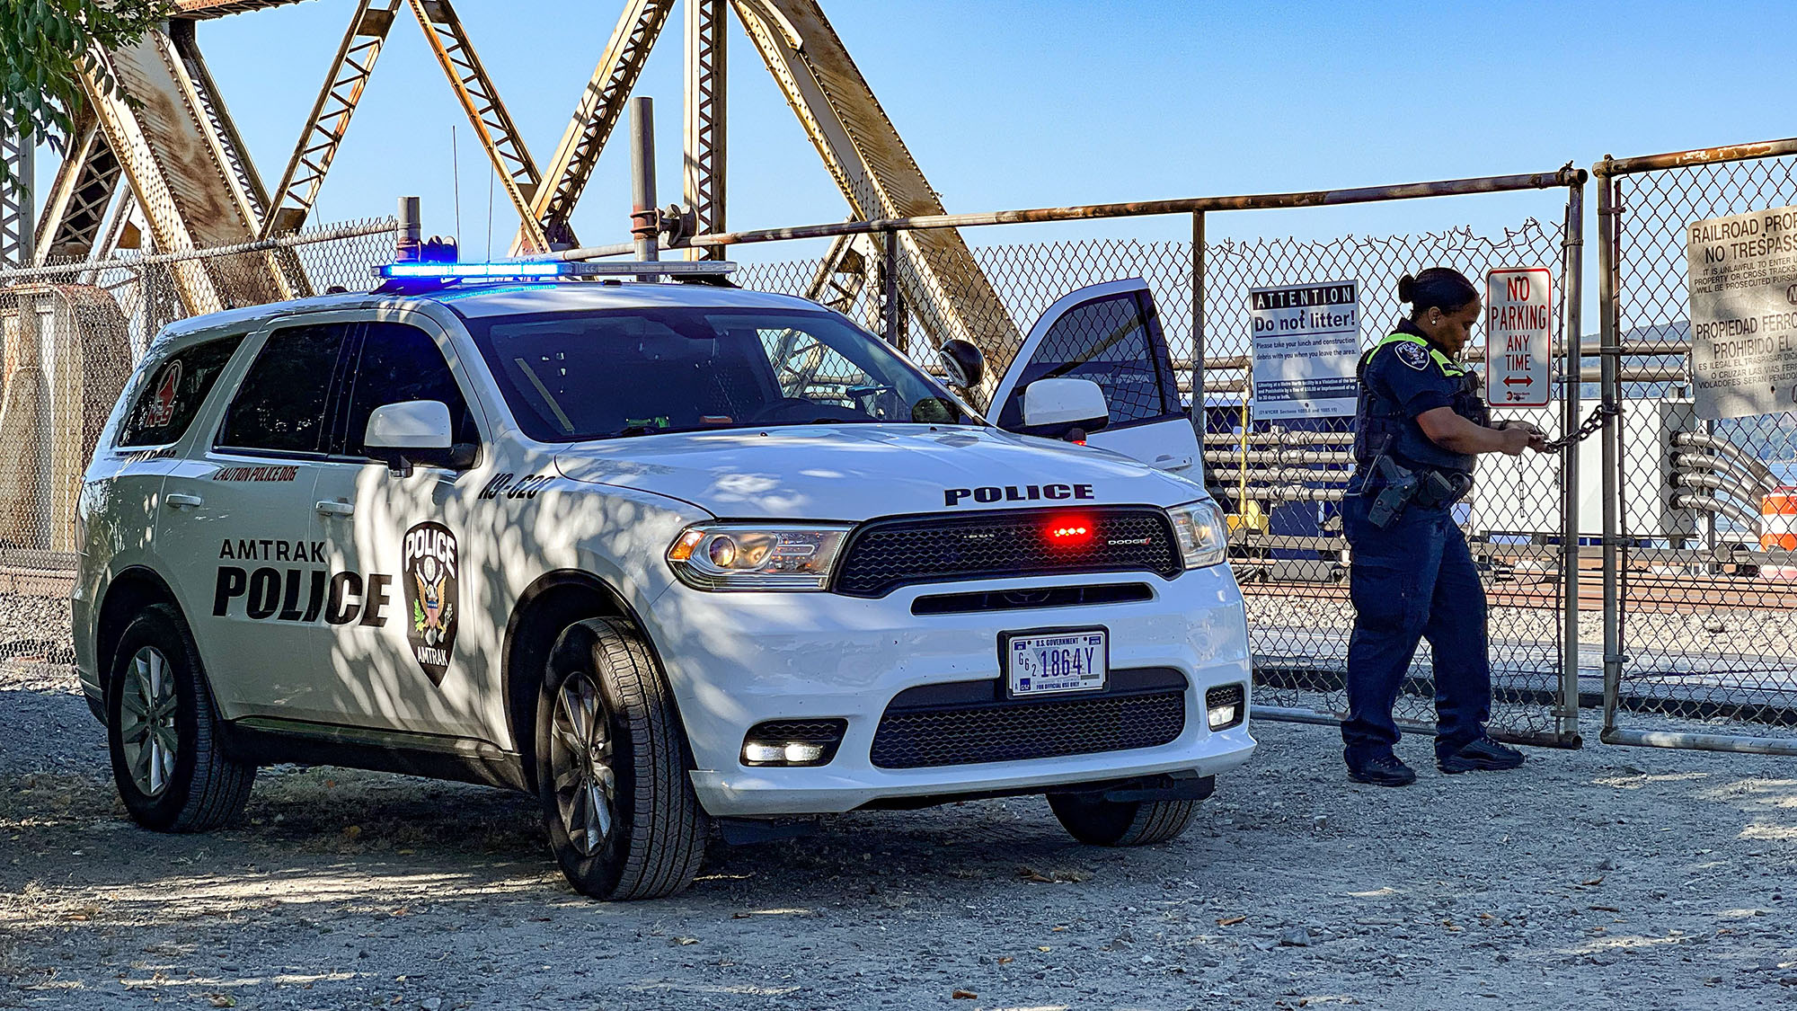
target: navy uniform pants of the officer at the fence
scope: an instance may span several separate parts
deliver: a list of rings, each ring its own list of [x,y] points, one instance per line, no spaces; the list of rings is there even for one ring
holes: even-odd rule
[[[1436,658],[1436,754],[1447,756],[1479,739],[1492,714],[1484,586],[1447,509],[1412,504],[1378,529],[1366,518],[1371,506],[1373,495],[1342,498],[1355,608],[1342,723],[1346,757],[1360,765],[1391,754],[1398,743],[1391,707],[1421,639]]]

